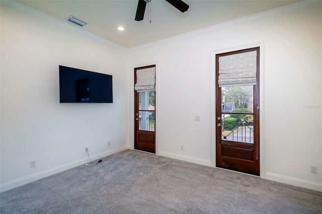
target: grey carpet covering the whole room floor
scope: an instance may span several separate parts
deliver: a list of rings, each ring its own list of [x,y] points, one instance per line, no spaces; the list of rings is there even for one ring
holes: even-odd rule
[[[322,213],[322,192],[125,150],[1,193],[1,213]]]

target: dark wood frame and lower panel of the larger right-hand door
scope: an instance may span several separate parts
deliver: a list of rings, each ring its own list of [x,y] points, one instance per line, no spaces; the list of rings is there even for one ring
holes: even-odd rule
[[[232,169],[250,174],[260,175],[260,153],[259,153],[259,88],[260,88],[260,48],[249,48],[239,51],[216,54],[216,123],[221,124],[221,87],[218,85],[219,57],[231,54],[257,51],[257,85],[254,85],[254,144],[240,143],[234,141],[221,141],[221,127],[216,126],[216,166]],[[256,105],[255,105],[256,104]],[[240,114],[240,113],[238,113]],[[247,113],[249,114],[249,113]],[[220,118],[220,120],[218,120]]]

